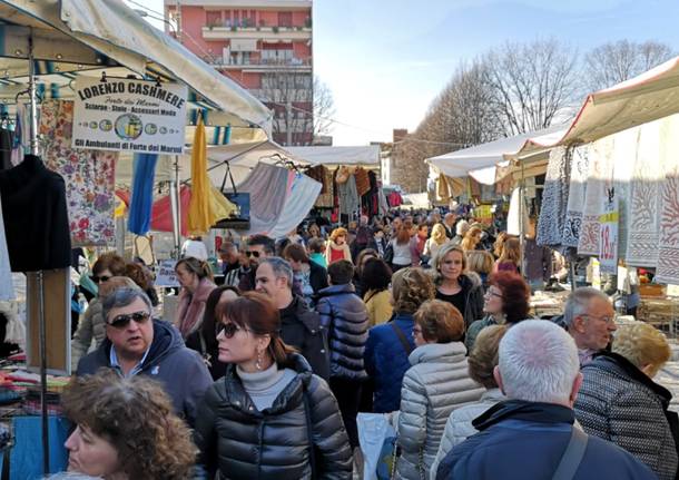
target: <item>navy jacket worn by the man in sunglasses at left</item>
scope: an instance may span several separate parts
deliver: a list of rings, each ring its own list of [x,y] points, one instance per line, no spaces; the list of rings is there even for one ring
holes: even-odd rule
[[[110,368],[110,352],[111,342],[106,339],[99,349],[80,360],[77,375],[90,375],[101,368]],[[195,424],[198,402],[213,379],[200,355],[184,345],[181,335],[171,324],[154,320],[154,341],[138,374],[163,383],[175,412],[189,425]]]

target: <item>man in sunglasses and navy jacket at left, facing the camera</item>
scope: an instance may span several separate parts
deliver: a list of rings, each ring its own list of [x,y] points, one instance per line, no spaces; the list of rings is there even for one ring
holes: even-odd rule
[[[120,376],[149,375],[159,381],[175,411],[193,427],[196,408],[213,379],[200,355],[184,345],[169,323],[151,317],[151,302],[138,288],[120,287],[102,300],[106,340],[82,357],[77,375],[109,368]]]

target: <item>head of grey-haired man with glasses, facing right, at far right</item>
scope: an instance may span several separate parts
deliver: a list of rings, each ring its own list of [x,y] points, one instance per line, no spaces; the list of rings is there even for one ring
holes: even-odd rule
[[[606,350],[613,339],[616,311],[608,296],[592,287],[580,287],[565,301],[563,323],[578,346],[580,366]]]

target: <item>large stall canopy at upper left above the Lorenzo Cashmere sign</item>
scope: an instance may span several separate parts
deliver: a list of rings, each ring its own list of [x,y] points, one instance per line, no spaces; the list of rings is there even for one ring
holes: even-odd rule
[[[0,100],[14,101],[28,81],[29,38],[42,98],[72,98],[78,75],[186,84],[206,125],[259,127],[272,112],[178,41],[147,23],[121,0],[0,0]]]

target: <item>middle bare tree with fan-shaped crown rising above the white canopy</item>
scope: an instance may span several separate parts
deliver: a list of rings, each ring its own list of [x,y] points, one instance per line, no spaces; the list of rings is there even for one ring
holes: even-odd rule
[[[578,53],[552,40],[505,43],[484,57],[498,123],[506,135],[549,127],[572,107]]]

